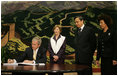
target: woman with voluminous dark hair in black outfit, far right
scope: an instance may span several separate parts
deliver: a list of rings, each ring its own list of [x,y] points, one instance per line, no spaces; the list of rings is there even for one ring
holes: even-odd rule
[[[112,19],[110,16],[102,14],[98,18],[102,31],[98,34],[98,48],[96,64],[99,65],[101,57],[101,74],[114,74],[114,67],[117,66],[117,49],[115,33],[111,29]],[[117,73],[117,69],[115,69]]]

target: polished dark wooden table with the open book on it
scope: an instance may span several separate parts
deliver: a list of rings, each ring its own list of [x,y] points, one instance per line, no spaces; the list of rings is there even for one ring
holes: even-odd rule
[[[45,64],[45,65],[1,65],[1,72],[12,74],[41,74],[80,72],[89,69],[86,65],[78,64]]]

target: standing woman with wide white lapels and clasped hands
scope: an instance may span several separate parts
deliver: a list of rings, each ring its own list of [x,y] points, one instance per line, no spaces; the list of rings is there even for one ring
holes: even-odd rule
[[[54,35],[50,38],[48,51],[50,53],[50,63],[64,64],[66,40],[65,36],[60,33],[62,31],[60,25],[53,28]]]

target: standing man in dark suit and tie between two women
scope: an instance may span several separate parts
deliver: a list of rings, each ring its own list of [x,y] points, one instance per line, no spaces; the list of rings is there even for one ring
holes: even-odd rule
[[[96,49],[96,36],[93,29],[84,25],[82,16],[74,18],[77,30],[75,31],[75,62],[76,64],[88,65],[89,70],[78,72],[78,74],[92,74],[92,60]]]

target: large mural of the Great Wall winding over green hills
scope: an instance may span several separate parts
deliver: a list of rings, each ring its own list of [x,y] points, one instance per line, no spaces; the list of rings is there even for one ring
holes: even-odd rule
[[[40,36],[42,46],[47,48],[52,28],[62,26],[62,35],[67,38],[65,63],[74,63],[73,31],[74,17],[83,15],[85,24],[91,26],[97,36],[100,30],[97,17],[101,13],[110,15],[117,25],[116,1],[2,1],[1,2],[1,59],[15,58],[25,51],[34,36]],[[96,54],[96,53],[95,53]],[[49,54],[47,52],[49,61]],[[94,56],[95,59],[95,56]],[[93,62],[93,67],[96,67]]]

